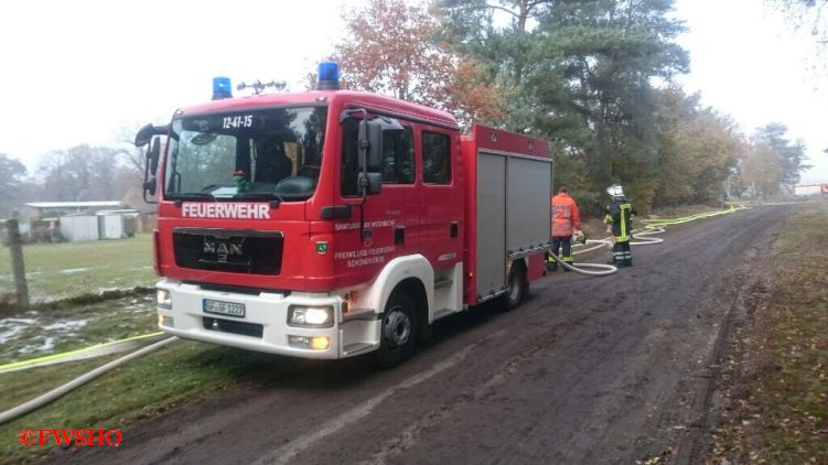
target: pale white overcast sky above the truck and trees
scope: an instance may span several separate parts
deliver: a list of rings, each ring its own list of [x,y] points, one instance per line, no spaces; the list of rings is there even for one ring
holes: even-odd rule
[[[33,170],[40,155],[79,143],[111,144],[120,128],[163,123],[175,108],[209,99],[213,76],[287,80],[329,54],[343,8],[364,0],[29,0],[0,7],[0,153]],[[745,133],[771,121],[802,138],[828,182],[828,83],[803,39],[763,0],[678,0],[690,32],[691,73],[702,102]]]

